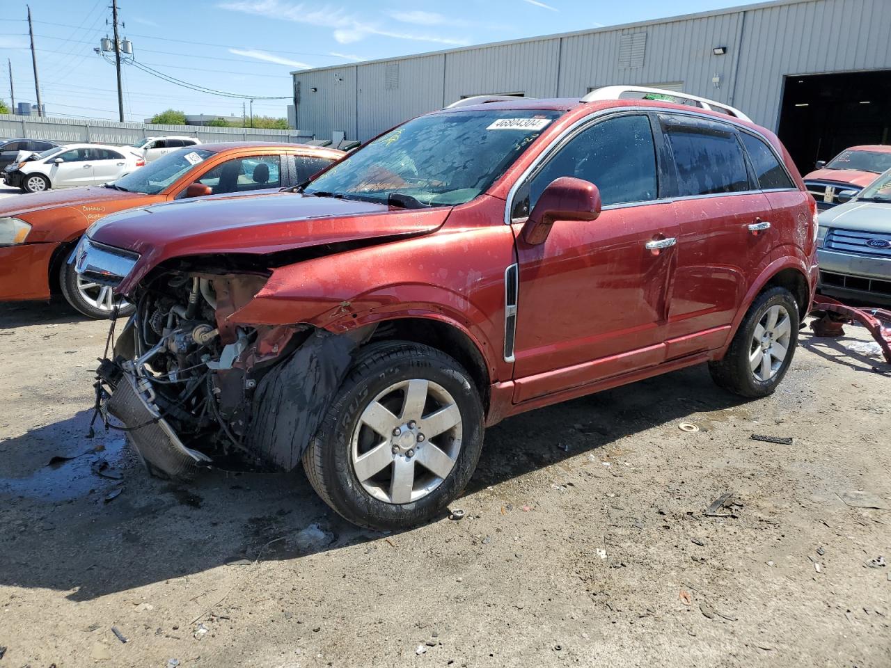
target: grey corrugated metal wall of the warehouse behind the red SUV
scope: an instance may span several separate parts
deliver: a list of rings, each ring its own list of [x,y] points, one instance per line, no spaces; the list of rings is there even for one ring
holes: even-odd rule
[[[620,67],[622,36],[640,33],[646,33],[642,63],[644,38],[626,37],[625,64],[634,67]],[[320,138],[346,130],[349,138],[366,140],[467,95],[574,97],[611,84],[682,82],[683,90],[731,103],[775,130],[783,77],[891,69],[889,36],[891,0],[799,0],[306,70],[294,74],[298,126]],[[727,53],[715,55],[715,46]],[[316,92],[307,93],[314,86]]]

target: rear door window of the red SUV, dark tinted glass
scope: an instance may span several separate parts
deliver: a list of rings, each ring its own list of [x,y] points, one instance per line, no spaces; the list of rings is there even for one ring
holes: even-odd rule
[[[702,118],[661,118],[674,154],[678,195],[717,195],[751,189],[742,145],[732,126]]]

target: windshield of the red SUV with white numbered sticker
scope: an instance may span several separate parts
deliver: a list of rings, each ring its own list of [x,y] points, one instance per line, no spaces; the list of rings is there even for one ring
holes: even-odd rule
[[[486,191],[560,111],[485,110],[408,121],[319,176],[305,190],[415,206],[463,204]],[[400,198],[400,196],[402,196]]]

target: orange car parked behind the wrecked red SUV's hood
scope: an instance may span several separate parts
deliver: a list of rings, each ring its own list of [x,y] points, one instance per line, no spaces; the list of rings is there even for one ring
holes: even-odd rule
[[[189,197],[276,192],[303,183],[342,155],[305,144],[205,143],[168,153],[113,183],[0,200],[0,301],[48,299],[58,288],[80,313],[107,318],[119,297],[79,278],[68,262],[95,221]]]

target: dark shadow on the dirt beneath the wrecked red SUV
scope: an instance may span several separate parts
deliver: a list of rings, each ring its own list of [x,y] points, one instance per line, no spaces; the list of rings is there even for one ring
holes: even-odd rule
[[[526,413],[486,432],[467,493],[554,464],[578,466],[571,458],[624,436],[740,403],[699,367]],[[300,470],[212,470],[189,484],[148,477],[119,432],[99,426],[86,437],[91,418],[80,411],[0,443],[0,584],[84,601],[383,535],[339,518]],[[49,464],[55,456],[76,457]]]

